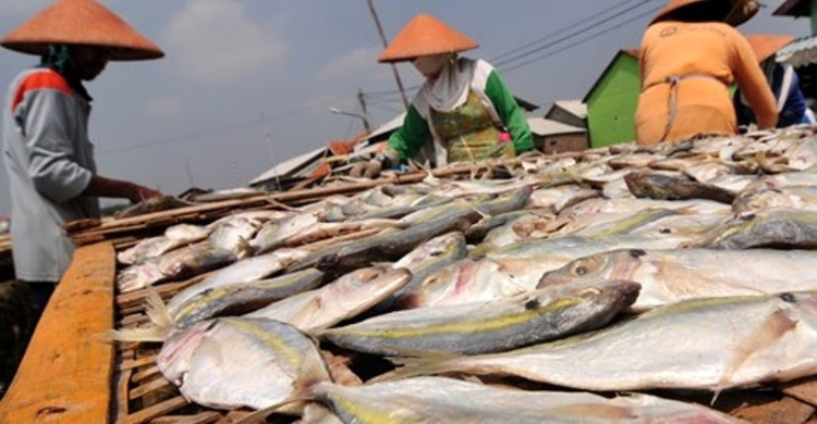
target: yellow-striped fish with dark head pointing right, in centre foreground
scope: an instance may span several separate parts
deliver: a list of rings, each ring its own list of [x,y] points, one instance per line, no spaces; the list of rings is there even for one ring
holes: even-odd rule
[[[638,284],[553,286],[489,302],[392,312],[321,334],[345,349],[382,356],[505,351],[606,325]]]

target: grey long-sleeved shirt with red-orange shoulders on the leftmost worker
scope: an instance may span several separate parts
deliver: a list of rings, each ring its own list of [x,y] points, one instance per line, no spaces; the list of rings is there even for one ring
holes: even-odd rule
[[[58,282],[74,251],[63,223],[99,216],[97,198],[81,195],[96,173],[89,114],[90,104],[52,70],[24,71],[9,88],[0,129],[19,279]]]

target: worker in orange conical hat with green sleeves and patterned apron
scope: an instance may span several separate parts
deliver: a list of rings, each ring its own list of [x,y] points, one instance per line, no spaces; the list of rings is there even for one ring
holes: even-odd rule
[[[459,57],[479,45],[441,21],[414,17],[380,54],[380,62],[412,62],[426,78],[403,126],[386,150],[353,175],[375,176],[410,159],[440,166],[512,158],[533,148],[522,109],[488,62]]]

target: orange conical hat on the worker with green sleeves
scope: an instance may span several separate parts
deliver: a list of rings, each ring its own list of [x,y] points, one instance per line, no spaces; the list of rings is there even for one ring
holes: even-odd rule
[[[479,47],[471,37],[434,16],[418,14],[380,54],[380,62],[401,62],[422,55],[455,53]]]

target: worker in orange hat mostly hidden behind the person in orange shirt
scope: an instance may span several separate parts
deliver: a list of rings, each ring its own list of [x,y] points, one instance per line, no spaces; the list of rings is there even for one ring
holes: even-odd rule
[[[794,37],[754,34],[747,35],[746,40],[752,46],[757,62],[766,76],[766,82],[775,95],[778,128],[798,124],[814,124],[814,113],[808,109],[806,97],[800,87],[800,76],[792,65],[779,63],[776,59],[778,50],[794,41]],[[735,90],[733,100],[739,125],[745,126],[757,122],[743,91]]]

